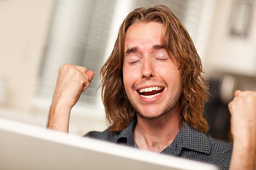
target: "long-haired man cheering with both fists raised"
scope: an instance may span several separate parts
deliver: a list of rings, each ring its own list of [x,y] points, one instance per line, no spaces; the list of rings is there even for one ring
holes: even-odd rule
[[[217,142],[206,135],[203,105],[208,92],[202,72],[190,36],[169,8],[135,9],[122,23],[101,70],[110,128],[86,136],[208,162],[220,169],[254,169],[255,92],[235,92],[229,105],[234,144]],[[85,67],[60,67],[48,128],[68,132],[70,111],[93,76]]]

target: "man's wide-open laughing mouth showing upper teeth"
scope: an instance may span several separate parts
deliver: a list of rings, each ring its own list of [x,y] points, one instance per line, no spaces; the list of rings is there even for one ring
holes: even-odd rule
[[[139,89],[139,95],[144,98],[154,98],[155,96],[159,96],[161,92],[164,91],[164,87],[160,86],[153,86],[153,87],[147,87],[143,89]]]

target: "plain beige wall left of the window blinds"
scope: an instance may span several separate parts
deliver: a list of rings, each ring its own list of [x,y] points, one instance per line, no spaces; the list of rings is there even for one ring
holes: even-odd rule
[[[2,106],[30,112],[53,0],[0,1]]]

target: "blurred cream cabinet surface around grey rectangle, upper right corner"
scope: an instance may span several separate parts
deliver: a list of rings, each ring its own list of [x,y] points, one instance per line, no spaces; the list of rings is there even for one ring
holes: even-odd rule
[[[216,0],[204,68],[209,74],[227,72],[256,78],[256,3],[247,38],[230,35],[235,0]],[[235,19],[235,18],[233,18]]]

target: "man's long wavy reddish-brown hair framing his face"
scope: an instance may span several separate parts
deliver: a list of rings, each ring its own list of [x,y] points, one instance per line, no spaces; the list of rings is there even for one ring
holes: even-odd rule
[[[191,37],[186,28],[166,6],[137,8],[128,14],[119,28],[114,49],[103,65],[102,101],[106,118],[112,132],[127,128],[136,115],[124,91],[122,64],[124,59],[124,38],[129,26],[138,22],[159,22],[164,26],[163,45],[179,62],[182,70],[182,92],[180,98],[181,120],[200,132],[208,131],[208,123],[203,117],[204,102],[208,100],[208,84],[203,79],[203,68]],[[169,53],[169,55],[171,55]]]

